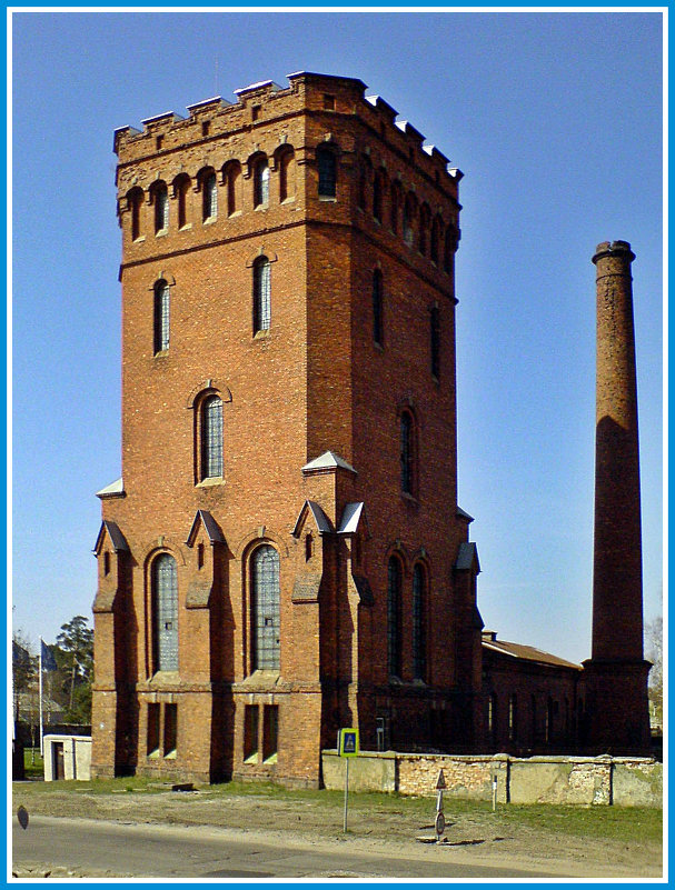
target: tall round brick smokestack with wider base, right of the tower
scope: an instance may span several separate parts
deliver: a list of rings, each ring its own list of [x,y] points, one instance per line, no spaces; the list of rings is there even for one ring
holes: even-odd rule
[[[637,386],[627,241],[603,241],[596,268],[597,362],[593,647],[584,662],[589,747],[649,748],[643,658]]]

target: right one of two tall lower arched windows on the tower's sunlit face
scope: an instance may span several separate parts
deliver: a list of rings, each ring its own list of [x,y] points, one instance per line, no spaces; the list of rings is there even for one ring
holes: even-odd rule
[[[271,544],[250,559],[251,670],[279,670],[279,554]]]

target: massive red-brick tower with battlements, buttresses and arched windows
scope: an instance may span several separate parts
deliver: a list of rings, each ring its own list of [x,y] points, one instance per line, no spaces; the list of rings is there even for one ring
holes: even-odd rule
[[[116,132],[93,776],[316,784],[349,726],[495,741],[457,504],[461,172],[359,80],[288,81]]]

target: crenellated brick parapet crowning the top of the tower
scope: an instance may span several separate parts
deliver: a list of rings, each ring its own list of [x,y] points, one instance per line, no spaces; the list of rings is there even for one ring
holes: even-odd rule
[[[235,102],[217,96],[187,106],[187,118],[169,111],[146,118],[141,121],[142,130],[118,128],[113,151],[120,166],[162,156],[188,144],[222,139],[250,127],[254,112],[259,114],[254,127],[265,126],[288,113],[310,113],[327,119],[335,114],[350,114],[360,118],[378,138],[409,156],[428,176],[434,176],[435,171],[443,173],[454,180],[455,186],[461,178],[460,171],[449,167],[445,154],[434,146],[424,144],[425,137],[419,130],[406,120],[398,120],[395,108],[379,96],[366,97],[366,84],[361,80],[312,71],[297,71],[288,74],[287,79],[290,86],[286,89],[272,80],[264,80],[235,90]]]

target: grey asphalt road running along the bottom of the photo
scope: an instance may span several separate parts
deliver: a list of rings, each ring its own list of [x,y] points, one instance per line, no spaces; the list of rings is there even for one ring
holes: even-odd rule
[[[12,820],[13,862],[108,870],[136,878],[544,878],[508,867],[473,866],[453,849],[419,844],[400,857],[357,850],[348,839],[311,844],[205,826],[192,828],[32,817]]]

